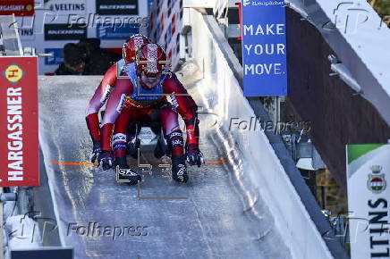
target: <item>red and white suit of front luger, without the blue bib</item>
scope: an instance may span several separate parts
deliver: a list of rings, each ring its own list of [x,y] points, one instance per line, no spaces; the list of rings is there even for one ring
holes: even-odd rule
[[[153,102],[145,104],[131,98],[137,88],[134,88],[130,79],[117,80],[114,91],[106,104],[106,113],[102,121],[102,150],[111,150],[112,129],[114,129],[114,134],[125,134],[130,121],[157,119],[162,123],[164,134],[167,136],[174,130],[180,129],[177,113],[182,116],[186,124],[187,145],[196,145],[194,147],[198,148],[199,139],[195,131],[197,105],[174,74],[172,77],[166,76],[161,85],[162,94],[165,96],[160,96]],[[171,98],[173,104],[167,102],[166,96]],[[123,152],[121,155],[115,156],[125,155],[124,151],[121,152]]]

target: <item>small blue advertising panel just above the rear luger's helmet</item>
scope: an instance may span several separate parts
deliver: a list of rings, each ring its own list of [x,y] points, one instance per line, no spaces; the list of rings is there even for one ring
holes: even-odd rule
[[[97,38],[106,40],[127,39],[140,33],[140,23],[97,23]]]

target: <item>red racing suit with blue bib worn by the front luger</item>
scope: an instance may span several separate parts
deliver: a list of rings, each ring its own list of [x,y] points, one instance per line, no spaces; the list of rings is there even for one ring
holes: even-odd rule
[[[191,146],[191,149],[198,149],[198,106],[176,76],[173,73],[164,75],[157,88],[148,90],[142,88],[139,79],[135,78],[133,63],[131,69],[133,77],[117,79],[107,101],[101,128],[102,151],[112,151],[111,138],[115,127],[112,138],[114,156],[125,155],[126,132],[131,121],[148,121],[156,118],[161,122],[165,136],[172,134],[174,138],[179,137],[181,130],[177,113],[182,116],[186,125],[186,145]],[[172,104],[167,101],[167,97],[171,98]],[[178,139],[176,142],[180,142]],[[180,153],[182,153],[180,148],[179,150],[176,148],[175,155]]]

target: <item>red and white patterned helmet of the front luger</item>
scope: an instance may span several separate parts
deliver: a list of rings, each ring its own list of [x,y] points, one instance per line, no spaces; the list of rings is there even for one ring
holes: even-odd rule
[[[165,71],[168,62],[165,51],[161,46],[149,43],[140,47],[137,52],[135,65],[138,73],[144,72],[147,77],[156,77]]]

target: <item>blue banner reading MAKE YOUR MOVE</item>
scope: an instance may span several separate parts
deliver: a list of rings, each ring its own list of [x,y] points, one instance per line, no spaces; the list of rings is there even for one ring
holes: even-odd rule
[[[244,96],[287,95],[284,1],[242,0]]]

